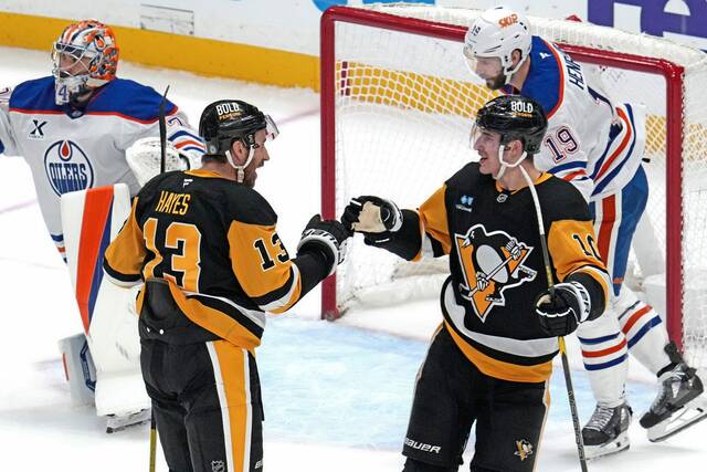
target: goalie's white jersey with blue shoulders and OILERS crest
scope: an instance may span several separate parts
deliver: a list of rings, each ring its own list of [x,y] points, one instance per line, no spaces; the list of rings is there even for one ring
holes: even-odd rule
[[[125,182],[139,186],[125,159],[137,139],[159,135],[161,95],[116,78],[83,109],[54,103],[54,78],[0,90],[0,154],[22,156],[32,171],[46,228],[64,255],[60,198],[63,193]],[[167,102],[167,137],[194,161],[204,146],[177,106]]]

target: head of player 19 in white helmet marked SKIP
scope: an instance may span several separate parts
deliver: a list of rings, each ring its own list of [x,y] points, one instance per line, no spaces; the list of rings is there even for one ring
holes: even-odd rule
[[[484,11],[464,36],[464,57],[472,74],[492,90],[508,82],[530,54],[531,35],[528,20],[506,7]],[[513,52],[520,51],[520,61],[513,66]]]

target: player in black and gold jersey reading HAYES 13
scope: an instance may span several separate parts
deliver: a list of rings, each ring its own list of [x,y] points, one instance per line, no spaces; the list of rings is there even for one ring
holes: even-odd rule
[[[171,471],[262,470],[255,348],[265,313],[291,308],[331,274],[349,232],[312,218],[291,259],[253,186],[277,134],[234,99],[201,115],[203,167],[159,175],[134,199],[104,269],[138,298],[140,363]]]

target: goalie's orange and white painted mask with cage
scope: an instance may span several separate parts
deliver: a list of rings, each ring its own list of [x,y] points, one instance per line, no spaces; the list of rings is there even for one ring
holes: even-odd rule
[[[119,50],[113,30],[96,20],[70,24],[52,48],[54,99],[57,105],[115,78]]]

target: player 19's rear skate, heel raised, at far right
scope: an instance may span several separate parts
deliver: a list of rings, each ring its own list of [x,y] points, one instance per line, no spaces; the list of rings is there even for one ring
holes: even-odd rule
[[[685,364],[674,344],[668,344],[665,350],[676,365],[658,377],[658,396],[641,417],[651,442],[663,441],[707,418],[707,401],[700,398],[704,387],[695,369]]]

